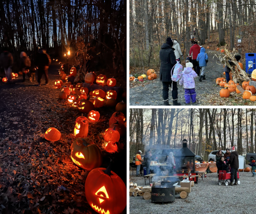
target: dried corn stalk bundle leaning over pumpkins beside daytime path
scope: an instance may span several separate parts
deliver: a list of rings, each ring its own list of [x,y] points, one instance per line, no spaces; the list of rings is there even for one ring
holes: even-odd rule
[[[214,57],[217,57],[219,59],[218,61],[220,61],[220,64],[218,63],[218,61],[216,61],[218,65],[227,66],[231,69],[230,72],[233,74],[233,81],[235,83],[242,84],[242,82],[244,81],[250,81],[248,74],[243,69],[241,69],[240,65],[238,64],[235,58],[235,54],[232,55],[231,52],[226,49],[226,46],[224,50],[225,51],[223,53],[216,53],[211,51],[209,54],[214,54],[212,59],[214,59]],[[231,66],[228,61],[234,63],[235,66]]]

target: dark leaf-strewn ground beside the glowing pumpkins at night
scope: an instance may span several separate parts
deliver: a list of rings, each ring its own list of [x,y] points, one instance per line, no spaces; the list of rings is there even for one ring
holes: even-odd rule
[[[73,163],[70,156],[75,120],[82,113],[67,99],[59,99],[61,89],[54,86],[60,79],[59,67],[55,62],[50,66],[49,85],[44,85],[44,78],[41,87],[35,81],[21,83],[21,77],[15,84],[0,83],[0,194],[8,198],[2,205],[13,213],[27,213],[29,209],[36,213],[96,213],[85,196],[89,172]],[[126,136],[120,138],[116,153],[105,150],[103,139],[115,107],[96,111],[99,121],[89,121],[87,137],[101,149],[100,167],[107,168],[112,158],[113,171],[126,183]],[[60,131],[59,140],[45,139],[50,127]]]

